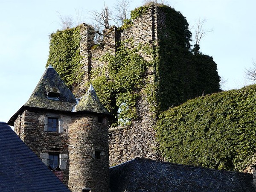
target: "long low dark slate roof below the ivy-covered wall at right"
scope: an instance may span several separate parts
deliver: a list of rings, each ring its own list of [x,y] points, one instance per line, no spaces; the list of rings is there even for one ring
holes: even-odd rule
[[[111,192],[255,192],[252,180],[252,174],[142,158],[110,168]]]

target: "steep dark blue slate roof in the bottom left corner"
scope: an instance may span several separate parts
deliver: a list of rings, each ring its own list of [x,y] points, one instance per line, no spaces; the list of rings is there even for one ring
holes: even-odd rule
[[[70,192],[5,122],[0,122],[0,191]]]

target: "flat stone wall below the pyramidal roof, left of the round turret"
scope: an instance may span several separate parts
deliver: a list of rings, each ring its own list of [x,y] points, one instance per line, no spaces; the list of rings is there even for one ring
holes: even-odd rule
[[[50,113],[52,114],[52,113]],[[68,154],[67,127],[70,118],[63,114],[55,114],[65,123],[63,133],[44,131],[45,118],[47,113],[44,111],[25,110],[15,121],[15,132],[20,136],[26,145],[38,156],[42,154]],[[66,168],[61,170],[63,174],[63,183],[67,185],[69,179],[69,161]],[[35,168],[36,169],[36,168]]]

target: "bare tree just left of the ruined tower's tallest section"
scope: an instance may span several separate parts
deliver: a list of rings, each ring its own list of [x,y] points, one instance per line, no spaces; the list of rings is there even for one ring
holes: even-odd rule
[[[128,9],[130,3],[130,0],[117,0],[117,3],[115,3],[114,9],[116,11],[116,25],[118,27],[122,26],[124,24],[123,21],[128,18]]]

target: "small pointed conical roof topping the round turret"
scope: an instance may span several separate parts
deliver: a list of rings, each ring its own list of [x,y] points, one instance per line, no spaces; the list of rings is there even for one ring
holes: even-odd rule
[[[102,113],[112,116],[111,113],[109,113],[108,110],[99,101],[99,98],[96,95],[92,84],[90,84],[86,95],[81,98],[79,104],[76,106],[76,111],[88,111],[92,113]]]

